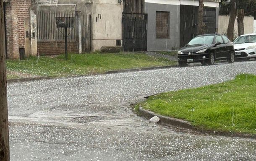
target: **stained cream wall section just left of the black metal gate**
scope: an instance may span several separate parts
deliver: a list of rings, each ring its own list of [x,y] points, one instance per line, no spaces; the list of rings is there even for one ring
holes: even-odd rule
[[[92,50],[115,46],[116,40],[122,40],[123,4],[118,0],[94,0],[93,8]]]

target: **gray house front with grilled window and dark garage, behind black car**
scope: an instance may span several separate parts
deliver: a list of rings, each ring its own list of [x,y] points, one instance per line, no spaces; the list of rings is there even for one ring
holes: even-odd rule
[[[204,0],[207,33],[218,28],[220,0]],[[199,0],[145,0],[148,14],[148,51],[170,51],[188,43],[197,33]]]

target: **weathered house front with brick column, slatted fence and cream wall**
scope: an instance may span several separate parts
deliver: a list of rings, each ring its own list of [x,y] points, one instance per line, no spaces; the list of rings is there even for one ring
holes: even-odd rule
[[[56,17],[73,17],[68,52],[100,50],[122,41],[122,0],[5,0],[6,56],[64,53]]]

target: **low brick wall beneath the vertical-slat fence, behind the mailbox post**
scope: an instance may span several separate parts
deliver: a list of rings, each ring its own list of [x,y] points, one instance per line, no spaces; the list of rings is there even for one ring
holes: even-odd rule
[[[58,55],[65,53],[65,42],[37,42],[39,55]],[[78,53],[78,43],[68,42],[68,52]]]

